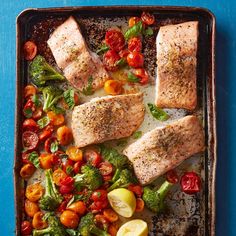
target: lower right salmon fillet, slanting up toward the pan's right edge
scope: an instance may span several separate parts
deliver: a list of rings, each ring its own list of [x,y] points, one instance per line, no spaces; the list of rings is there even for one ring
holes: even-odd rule
[[[202,125],[196,116],[186,116],[146,133],[123,153],[133,163],[139,182],[146,185],[204,148]]]

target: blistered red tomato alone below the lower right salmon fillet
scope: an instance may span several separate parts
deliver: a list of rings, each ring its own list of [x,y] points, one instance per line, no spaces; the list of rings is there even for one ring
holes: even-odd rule
[[[185,172],[180,180],[181,189],[184,193],[195,194],[200,192],[201,179],[195,172]]]

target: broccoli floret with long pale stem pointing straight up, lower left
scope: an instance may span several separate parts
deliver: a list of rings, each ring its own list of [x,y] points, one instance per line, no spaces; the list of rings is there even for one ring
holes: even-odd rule
[[[55,210],[59,204],[62,202],[63,197],[57,191],[56,186],[52,180],[52,170],[45,171],[45,194],[39,200],[39,207],[45,211],[53,211]]]

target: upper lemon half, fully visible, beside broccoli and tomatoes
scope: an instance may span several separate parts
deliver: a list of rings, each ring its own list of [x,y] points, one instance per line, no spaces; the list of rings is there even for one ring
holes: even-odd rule
[[[131,217],[136,208],[133,192],[125,188],[117,188],[108,193],[108,200],[115,212],[123,217]]]

